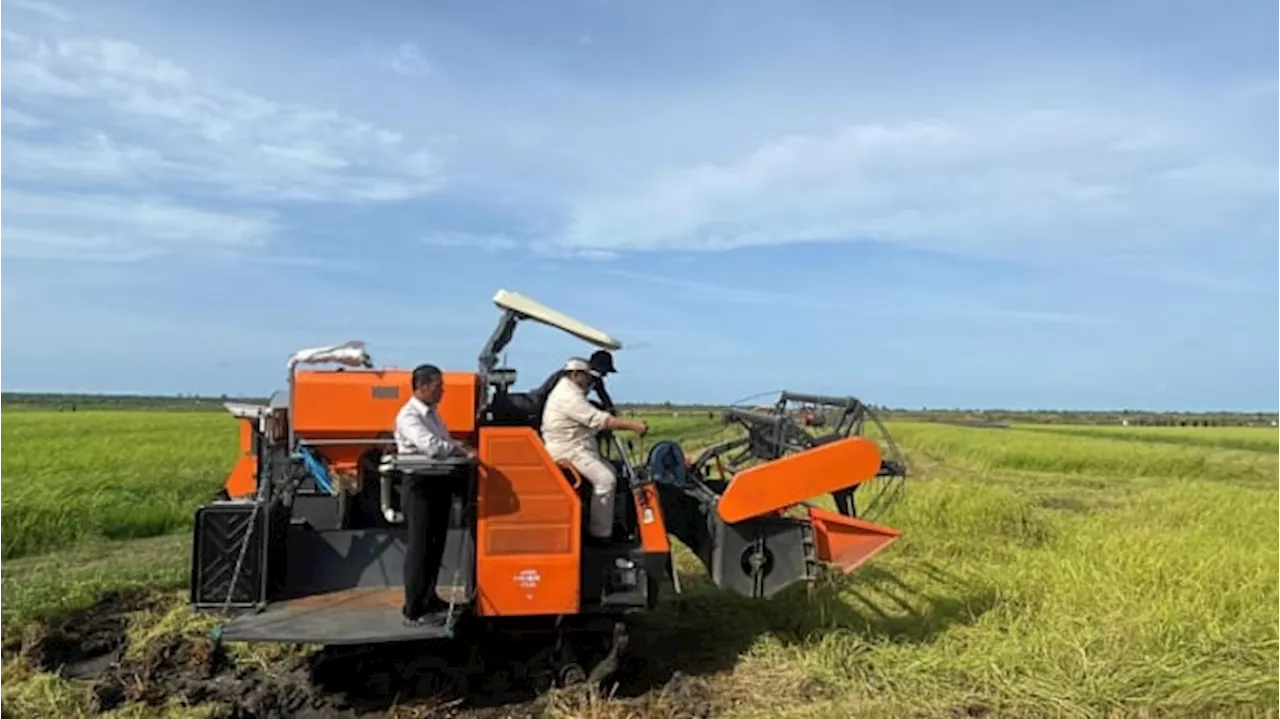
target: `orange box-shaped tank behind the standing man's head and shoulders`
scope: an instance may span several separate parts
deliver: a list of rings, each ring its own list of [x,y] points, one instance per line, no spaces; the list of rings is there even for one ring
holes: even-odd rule
[[[300,370],[293,377],[293,430],[307,439],[390,436],[411,397],[410,370]],[[479,377],[444,372],[440,418],[456,438],[475,431]]]

